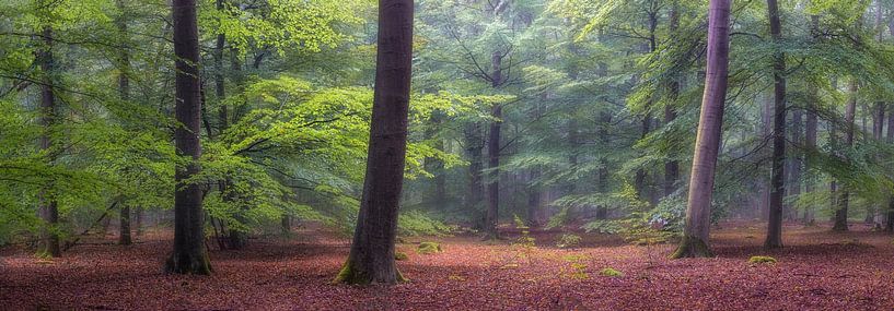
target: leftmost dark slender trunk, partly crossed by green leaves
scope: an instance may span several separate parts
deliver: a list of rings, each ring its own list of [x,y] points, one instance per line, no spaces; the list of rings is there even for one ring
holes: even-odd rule
[[[53,155],[57,147],[56,139],[53,137],[56,129],[57,108],[56,108],[56,63],[53,58],[53,28],[44,26],[43,29],[43,46],[37,52],[37,60],[40,62],[40,70],[44,74],[44,83],[40,85],[40,124],[44,127],[44,134],[40,136],[40,149],[48,154],[47,162],[53,165],[56,160]],[[37,249],[39,256],[56,258],[62,254],[59,248],[59,210],[56,201],[56,194],[53,193],[55,187],[54,181],[49,181],[47,189],[40,193],[40,219],[44,225],[40,228],[40,243]]]

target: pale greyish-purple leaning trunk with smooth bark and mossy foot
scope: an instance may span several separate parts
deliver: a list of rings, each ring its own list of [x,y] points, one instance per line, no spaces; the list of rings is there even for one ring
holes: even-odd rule
[[[731,0],[710,0],[709,5],[705,95],[701,100],[701,115],[698,121],[689,179],[686,226],[680,247],[671,255],[675,259],[713,255],[708,246],[708,238],[711,226],[715,169],[717,155],[720,152],[723,106],[727,99]]]

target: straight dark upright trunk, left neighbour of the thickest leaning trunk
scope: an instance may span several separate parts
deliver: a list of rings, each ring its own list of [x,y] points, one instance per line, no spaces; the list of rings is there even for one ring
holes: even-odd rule
[[[202,191],[199,184],[184,180],[199,174],[201,156],[201,84],[199,83],[199,43],[195,0],[173,1],[174,55],[176,56],[177,127],[174,141],[177,155],[190,157],[186,167],[175,174],[174,250],[165,263],[167,273],[211,274],[211,264],[205,248],[205,215],[201,210]]]

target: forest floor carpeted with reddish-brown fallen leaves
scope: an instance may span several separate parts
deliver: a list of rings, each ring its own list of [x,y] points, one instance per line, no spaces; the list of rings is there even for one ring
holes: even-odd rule
[[[0,310],[891,310],[892,237],[851,227],[787,225],[787,247],[766,252],[763,224],[724,223],[711,239],[717,258],[675,261],[665,259],[673,246],[600,235],[572,250],[555,247],[560,232],[533,232],[534,248],[513,246],[511,232],[501,242],[410,238],[398,267],[411,282],[373,287],[329,284],[349,240],[320,228],[212,250],[212,276],[164,275],[171,236],[150,232],[53,261],[0,249]],[[419,241],[444,251],[418,254]],[[750,264],[752,255],[778,263]],[[605,267],[623,275],[603,276]]]

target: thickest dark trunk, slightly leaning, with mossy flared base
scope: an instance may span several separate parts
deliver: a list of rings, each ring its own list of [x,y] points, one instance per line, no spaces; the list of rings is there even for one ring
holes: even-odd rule
[[[407,151],[413,10],[413,0],[379,1],[367,177],[351,252],[337,283],[394,284],[404,279],[394,263],[394,241]]]

